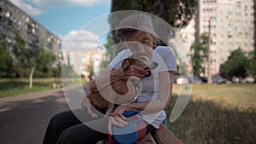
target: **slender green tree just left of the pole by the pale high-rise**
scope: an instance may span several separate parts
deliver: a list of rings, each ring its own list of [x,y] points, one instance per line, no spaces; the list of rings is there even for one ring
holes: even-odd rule
[[[200,37],[200,42],[193,43],[190,49],[190,56],[192,60],[193,72],[195,76],[200,76],[205,73],[205,66],[202,64],[207,60],[207,43],[209,37],[207,33],[203,33]]]

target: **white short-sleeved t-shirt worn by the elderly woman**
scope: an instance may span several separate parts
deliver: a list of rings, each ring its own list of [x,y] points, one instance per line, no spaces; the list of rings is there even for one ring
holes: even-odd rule
[[[110,62],[109,66],[118,69],[125,58],[131,56],[131,50],[125,49],[119,52],[119,54]],[[176,56],[173,53],[172,48],[166,46],[158,46],[153,50],[151,60],[159,63],[154,70],[151,71],[149,77],[142,78],[142,91],[138,96],[137,101],[150,101],[154,100],[159,93],[159,75],[160,72],[172,71],[177,72]],[[169,78],[168,78],[169,79]],[[167,95],[166,95],[167,96]],[[143,114],[143,119],[153,125],[155,128],[159,128],[160,124],[165,120],[166,112],[164,110],[160,112]]]

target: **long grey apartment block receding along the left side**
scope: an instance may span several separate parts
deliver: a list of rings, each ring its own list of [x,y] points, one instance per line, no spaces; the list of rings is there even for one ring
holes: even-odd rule
[[[33,20],[32,17],[16,7],[15,4],[10,3],[8,0],[0,0],[0,41],[7,42],[7,50],[11,49],[11,43],[15,43],[14,30],[20,31],[20,36],[27,43],[39,40],[44,49],[56,55],[54,65],[60,62],[61,39],[46,30],[44,26]]]

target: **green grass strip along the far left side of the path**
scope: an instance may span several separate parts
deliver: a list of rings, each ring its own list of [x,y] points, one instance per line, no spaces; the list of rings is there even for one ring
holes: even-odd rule
[[[67,79],[65,86],[78,84],[79,79]],[[55,82],[61,86],[61,78],[55,78]],[[0,79],[0,98],[12,95],[21,95],[47,89],[54,89],[53,78],[34,78],[32,89],[28,88],[28,78],[4,78]]]

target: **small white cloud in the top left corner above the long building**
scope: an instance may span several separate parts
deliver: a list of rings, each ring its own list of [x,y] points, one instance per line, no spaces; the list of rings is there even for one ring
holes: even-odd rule
[[[14,3],[17,7],[19,7],[20,9],[22,9],[23,11],[26,12],[26,14],[30,14],[30,15],[40,15],[43,13],[43,11],[39,8],[36,8],[34,6],[32,6],[32,4],[29,3],[25,3],[22,0],[10,0],[11,3]]]

